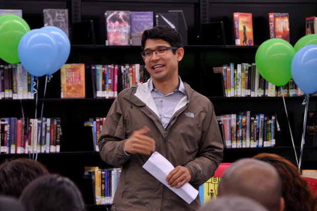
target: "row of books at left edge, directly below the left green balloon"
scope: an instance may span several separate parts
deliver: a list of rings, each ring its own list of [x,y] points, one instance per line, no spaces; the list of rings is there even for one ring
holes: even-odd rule
[[[0,65],[0,99],[34,99],[34,76],[21,63]]]

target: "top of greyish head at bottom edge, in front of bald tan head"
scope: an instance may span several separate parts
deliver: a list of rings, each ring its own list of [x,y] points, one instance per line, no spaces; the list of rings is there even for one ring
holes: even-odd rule
[[[201,211],[268,211],[262,204],[242,196],[218,197],[205,204]]]

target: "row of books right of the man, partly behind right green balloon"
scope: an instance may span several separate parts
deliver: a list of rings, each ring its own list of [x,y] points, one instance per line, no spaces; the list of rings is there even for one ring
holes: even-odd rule
[[[255,63],[224,64],[213,67],[214,73],[221,73],[225,97],[277,97],[303,96],[304,92],[290,79],[289,82],[277,87],[266,81]]]

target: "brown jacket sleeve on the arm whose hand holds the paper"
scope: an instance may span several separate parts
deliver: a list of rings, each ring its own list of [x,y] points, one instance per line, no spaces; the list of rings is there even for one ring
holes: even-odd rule
[[[207,116],[202,122],[202,134],[197,156],[185,167],[191,174],[190,183],[201,185],[210,179],[223,158],[223,141],[213,104],[209,101]]]

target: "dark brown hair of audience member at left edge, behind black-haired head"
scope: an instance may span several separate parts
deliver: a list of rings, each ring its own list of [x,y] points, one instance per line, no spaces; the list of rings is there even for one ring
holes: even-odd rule
[[[39,161],[17,158],[0,165],[0,194],[19,197],[32,180],[49,174]]]

